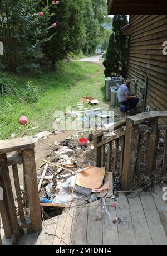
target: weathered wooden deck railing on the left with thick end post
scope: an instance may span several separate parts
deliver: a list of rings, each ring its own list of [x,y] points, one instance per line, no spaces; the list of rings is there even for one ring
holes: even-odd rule
[[[42,229],[41,209],[38,198],[34,142],[31,137],[0,141],[0,187],[3,188],[3,200],[0,200],[0,213],[6,239],[18,243],[24,229],[35,233]],[[11,157],[7,153],[15,152]],[[24,190],[27,194],[30,215],[23,207],[18,164],[23,164]],[[12,166],[14,187],[16,190],[19,217],[13,197],[9,166]],[[3,243],[0,238],[0,244]]]

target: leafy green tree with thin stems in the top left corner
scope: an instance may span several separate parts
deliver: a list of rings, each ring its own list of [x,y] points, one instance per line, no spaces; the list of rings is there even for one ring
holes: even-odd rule
[[[15,71],[41,53],[47,15],[38,13],[33,0],[0,0],[0,38],[4,45],[2,61]],[[28,63],[29,61],[29,63]]]

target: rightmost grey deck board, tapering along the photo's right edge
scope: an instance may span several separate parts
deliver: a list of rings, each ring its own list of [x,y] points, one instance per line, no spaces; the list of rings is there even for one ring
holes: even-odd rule
[[[165,187],[165,184],[163,187]],[[154,202],[159,212],[161,223],[163,224],[165,234],[167,236],[167,212],[162,210],[162,207],[167,207],[167,200],[163,200],[163,187],[160,187],[160,184],[155,184],[152,196],[154,198]]]

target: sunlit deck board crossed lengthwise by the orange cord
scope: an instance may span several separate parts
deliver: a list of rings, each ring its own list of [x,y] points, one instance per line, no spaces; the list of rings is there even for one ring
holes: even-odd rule
[[[65,230],[62,236],[62,241],[61,241],[61,245],[69,245],[70,244],[70,236],[71,236],[71,228],[72,228],[72,221],[73,221],[73,212],[74,209],[70,209],[68,215],[67,215],[67,220],[66,220],[66,224],[65,224]],[[60,244],[60,238],[61,238],[61,234],[62,234],[62,229],[63,229],[63,224],[65,221],[65,214],[62,214],[59,216],[58,219],[58,225],[57,225],[57,230],[56,230],[56,235],[54,240],[53,240],[53,245],[58,245]]]

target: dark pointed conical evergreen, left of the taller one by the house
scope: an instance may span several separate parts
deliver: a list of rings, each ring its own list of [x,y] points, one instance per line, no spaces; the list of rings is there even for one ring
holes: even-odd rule
[[[117,52],[116,41],[115,41],[115,34],[112,32],[109,45],[107,48],[106,59],[104,60],[103,64],[105,67],[105,77],[111,77],[115,75],[119,75],[119,53]]]

